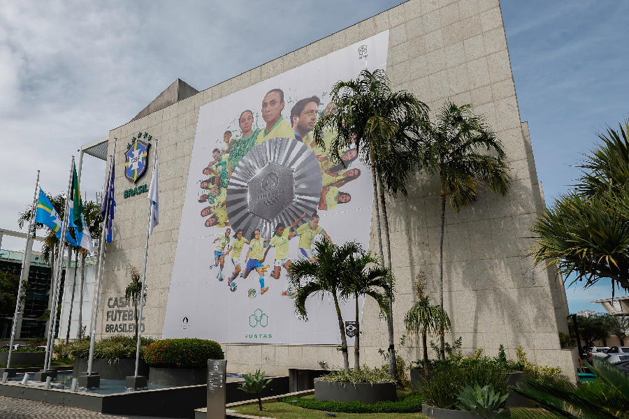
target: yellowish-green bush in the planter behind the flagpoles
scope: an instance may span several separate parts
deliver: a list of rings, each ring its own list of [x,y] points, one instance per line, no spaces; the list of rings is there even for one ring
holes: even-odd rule
[[[152,344],[155,339],[151,337],[140,337],[140,356],[145,351],[146,346]],[[117,360],[130,360],[136,358],[136,338],[133,336],[111,336],[101,339],[94,344],[94,358],[115,362]],[[87,358],[89,357],[89,340],[71,342],[67,345],[59,344],[53,348],[53,353],[58,358]]]

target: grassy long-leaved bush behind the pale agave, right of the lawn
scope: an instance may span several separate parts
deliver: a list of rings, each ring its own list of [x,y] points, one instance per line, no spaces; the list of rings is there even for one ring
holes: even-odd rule
[[[507,376],[503,369],[491,364],[475,364],[467,367],[449,367],[434,372],[433,378],[424,383],[424,399],[430,406],[440,409],[456,409],[456,396],[466,385],[491,385],[506,395]]]

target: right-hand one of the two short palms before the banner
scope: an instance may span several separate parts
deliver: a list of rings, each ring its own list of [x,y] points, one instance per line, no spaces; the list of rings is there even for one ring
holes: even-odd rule
[[[342,269],[341,296],[344,299],[354,297],[356,304],[356,335],[354,337],[354,369],[361,369],[361,328],[359,322],[359,297],[368,295],[376,300],[380,312],[387,314],[390,309],[389,300],[393,296],[393,281],[389,278],[389,270],[379,265],[378,260],[370,252],[363,250],[360,244],[349,242],[354,246],[354,253],[349,255]]]

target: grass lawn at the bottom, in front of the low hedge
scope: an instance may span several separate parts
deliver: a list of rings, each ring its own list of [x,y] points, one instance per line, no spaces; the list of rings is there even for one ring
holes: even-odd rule
[[[311,409],[302,409],[301,407],[291,406],[290,404],[274,402],[264,403],[263,411],[258,410],[257,404],[247,404],[246,406],[234,407],[233,410],[244,415],[264,416],[266,418],[277,419],[321,419],[325,418],[325,412]],[[409,418],[426,418],[421,413],[336,413],[337,418],[341,419],[409,419]]]

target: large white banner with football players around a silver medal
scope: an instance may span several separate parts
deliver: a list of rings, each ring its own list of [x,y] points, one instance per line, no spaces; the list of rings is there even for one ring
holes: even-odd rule
[[[200,108],[164,337],[340,343],[331,296],[310,297],[302,321],[287,275],[317,240],[368,248],[370,170],[354,146],[332,163],[335,131],[319,147],[312,128],[333,112],[333,84],[384,68],[388,45],[384,31]],[[355,313],[343,304],[349,344]]]

